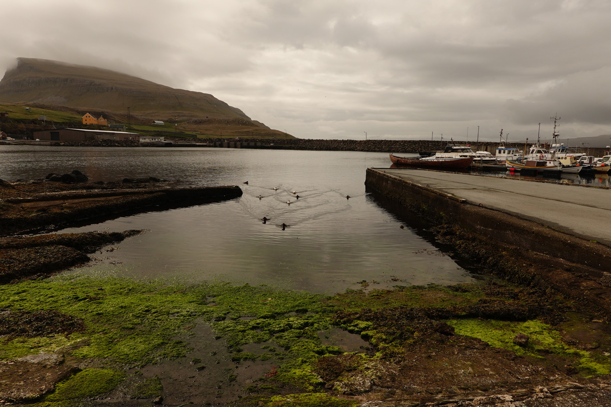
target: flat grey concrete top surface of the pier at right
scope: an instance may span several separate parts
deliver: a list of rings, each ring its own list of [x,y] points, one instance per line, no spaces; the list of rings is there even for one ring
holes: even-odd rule
[[[611,247],[609,189],[411,168],[378,171]]]

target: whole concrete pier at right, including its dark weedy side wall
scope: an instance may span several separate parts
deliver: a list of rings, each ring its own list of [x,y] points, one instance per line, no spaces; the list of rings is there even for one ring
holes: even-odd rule
[[[486,272],[552,286],[611,314],[610,189],[417,168],[368,168],[365,186],[458,230],[445,232],[450,245],[481,257]]]

